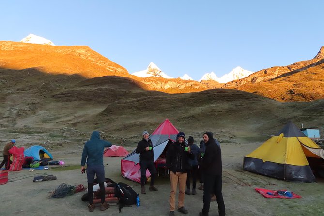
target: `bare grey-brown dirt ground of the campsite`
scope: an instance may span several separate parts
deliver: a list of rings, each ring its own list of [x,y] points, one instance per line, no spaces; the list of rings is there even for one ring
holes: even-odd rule
[[[268,178],[242,170],[243,157],[262,143],[224,143],[221,145],[223,159],[223,196],[228,216],[323,216],[324,179],[316,183],[292,183]],[[128,147],[132,151],[134,147]],[[85,192],[64,198],[48,199],[50,192],[61,183],[67,185],[87,185],[86,175],[79,169],[82,146],[64,146],[64,150],[52,150],[54,160],[63,160],[67,167],[49,170],[22,170],[9,173],[9,182],[0,185],[0,215],[51,215],[51,216],[167,216],[169,214],[170,185],[163,172],[157,178],[157,192],[147,190],[140,195],[140,207],[124,207],[118,212],[116,205],[106,211],[97,207],[89,212],[87,203],[81,201]],[[2,159],[2,158],[1,158]],[[106,177],[116,182],[124,182],[140,192],[138,183],[124,179],[120,172],[121,158],[104,157]],[[50,167],[51,168],[51,167]],[[69,169],[69,170],[64,170]],[[55,175],[57,180],[34,183],[36,175]],[[254,188],[287,189],[302,196],[301,199],[267,199],[255,192]],[[202,191],[196,195],[185,195],[188,216],[198,216],[202,208]],[[182,215],[175,212],[175,215]],[[217,216],[217,203],[211,203],[210,215]]]

